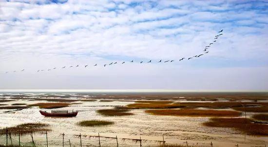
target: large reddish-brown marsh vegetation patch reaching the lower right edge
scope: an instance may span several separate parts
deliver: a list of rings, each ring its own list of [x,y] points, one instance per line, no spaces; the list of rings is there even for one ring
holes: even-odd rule
[[[234,128],[248,135],[268,135],[268,125],[253,124],[250,119],[245,118],[211,118],[209,122],[203,123],[207,127]]]

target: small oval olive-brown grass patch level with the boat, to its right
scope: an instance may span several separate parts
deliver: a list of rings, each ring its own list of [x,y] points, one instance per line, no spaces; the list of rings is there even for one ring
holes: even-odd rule
[[[125,109],[102,109],[96,110],[97,113],[103,116],[125,116],[125,115],[134,115],[130,110]]]

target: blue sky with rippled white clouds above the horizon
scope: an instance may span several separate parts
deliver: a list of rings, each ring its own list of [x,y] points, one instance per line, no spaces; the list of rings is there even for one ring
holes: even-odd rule
[[[0,89],[267,91],[267,40],[268,0],[0,0]]]

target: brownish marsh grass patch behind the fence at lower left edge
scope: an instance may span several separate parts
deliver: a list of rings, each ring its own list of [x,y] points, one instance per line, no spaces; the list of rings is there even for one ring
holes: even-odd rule
[[[43,124],[43,123],[26,123],[26,124],[20,124],[15,127],[9,127],[8,132],[11,134],[30,134],[30,133],[40,133],[43,131],[50,131],[48,129],[49,125],[48,124]],[[3,135],[6,133],[6,128],[0,129],[0,135]]]

